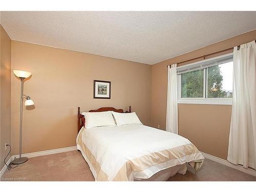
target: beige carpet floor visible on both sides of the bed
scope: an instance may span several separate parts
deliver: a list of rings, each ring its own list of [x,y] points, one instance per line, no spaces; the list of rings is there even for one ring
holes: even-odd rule
[[[168,181],[256,181],[256,177],[205,159],[203,166],[193,174],[176,174]],[[94,181],[86,161],[78,151],[30,158],[16,168],[6,170],[3,180],[21,181]]]

